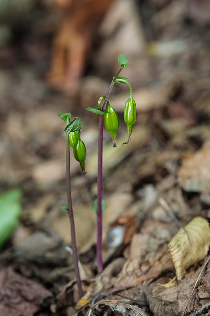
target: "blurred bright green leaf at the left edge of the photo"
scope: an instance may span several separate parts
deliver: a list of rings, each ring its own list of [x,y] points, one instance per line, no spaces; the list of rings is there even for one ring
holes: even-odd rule
[[[0,247],[13,234],[19,223],[22,191],[13,189],[0,194]]]

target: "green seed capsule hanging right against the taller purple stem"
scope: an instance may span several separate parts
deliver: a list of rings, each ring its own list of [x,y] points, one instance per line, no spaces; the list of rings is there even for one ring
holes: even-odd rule
[[[116,113],[116,111],[111,107],[109,104],[109,101],[107,102],[106,110],[104,111],[105,115],[104,117],[104,126],[110,132],[112,141],[113,141],[113,147],[117,147],[116,145],[116,138],[117,138],[117,131],[119,128],[119,118]]]

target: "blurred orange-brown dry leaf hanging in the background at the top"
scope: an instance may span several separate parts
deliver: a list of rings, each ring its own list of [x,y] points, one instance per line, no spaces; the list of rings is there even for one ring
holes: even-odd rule
[[[87,52],[90,50],[101,19],[114,0],[57,1],[63,19],[53,41],[52,66],[48,83],[61,90],[74,91],[83,74]]]

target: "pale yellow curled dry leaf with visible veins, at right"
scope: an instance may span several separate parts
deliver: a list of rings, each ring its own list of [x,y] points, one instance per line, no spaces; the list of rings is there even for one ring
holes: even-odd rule
[[[210,226],[206,219],[195,217],[179,230],[168,245],[178,279],[187,268],[205,258],[209,246]]]

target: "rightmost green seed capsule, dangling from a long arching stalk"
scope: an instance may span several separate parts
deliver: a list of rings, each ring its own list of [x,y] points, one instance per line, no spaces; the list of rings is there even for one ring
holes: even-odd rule
[[[128,130],[128,140],[127,142],[123,143],[128,144],[131,139],[131,133],[132,133],[132,127],[133,124],[136,121],[136,102],[133,100],[133,98],[130,96],[130,98],[125,102],[125,108],[124,108],[124,121],[127,125]]]

